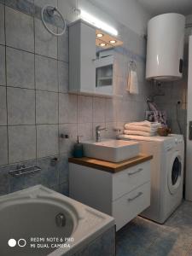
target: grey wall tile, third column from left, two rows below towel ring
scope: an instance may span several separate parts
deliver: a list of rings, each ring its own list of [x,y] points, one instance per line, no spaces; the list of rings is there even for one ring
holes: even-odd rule
[[[58,93],[36,91],[36,123],[58,124]]]

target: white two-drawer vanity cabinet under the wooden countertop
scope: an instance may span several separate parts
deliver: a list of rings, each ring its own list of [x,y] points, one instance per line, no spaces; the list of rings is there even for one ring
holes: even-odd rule
[[[87,161],[88,165],[84,166],[82,161],[69,160],[70,197],[112,215],[116,230],[149,207],[150,159],[118,172],[113,172],[113,168],[107,172],[101,165],[96,169],[91,167],[91,160]]]

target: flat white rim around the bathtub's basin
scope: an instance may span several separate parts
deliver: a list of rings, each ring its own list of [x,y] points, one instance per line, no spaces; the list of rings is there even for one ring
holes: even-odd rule
[[[84,247],[88,245],[91,241],[94,241],[98,236],[101,236],[102,233],[110,229],[111,227],[114,227],[114,218],[103,213],[99,212],[94,208],[91,208],[89,206],[86,206],[79,201],[75,201],[72,198],[67,197],[66,195],[61,195],[60,193],[56,192],[55,190],[48,189],[44,187],[43,185],[39,184],[36,186],[32,186],[28,189],[22,189],[13,193],[10,193],[8,195],[2,195],[0,196],[0,204],[1,202],[6,202],[13,200],[13,197],[17,197],[20,199],[29,199],[29,195],[37,196],[39,193],[42,193],[39,197],[41,198],[51,198],[51,199],[60,199],[64,203],[67,203],[69,205],[73,205],[73,208],[75,211],[78,212],[79,215],[79,223],[76,226],[76,229],[73,231],[73,238],[76,241],[68,242],[71,245],[71,248],[57,248],[52,253],[49,253],[47,256],[61,256],[61,255],[73,255],[73,253],[76,253],[79,251],[81,247]],[[33,194],[32,194],[33,193]],[[32,197],[31,197],[32,198]],[[79,230],[79,224],[86,224],[86,214],[89,212],[90,214],[93,214],[94,216],[97,216],[98,218],[102,218],[102,223],[98,224],[94,229],[90,229],[89,233],[83,233]],[[114,229],[115,230],[115,229]]]

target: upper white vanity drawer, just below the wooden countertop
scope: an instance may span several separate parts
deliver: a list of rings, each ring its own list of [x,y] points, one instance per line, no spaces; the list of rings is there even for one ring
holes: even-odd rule
[[[146,161],[125,171],[113,174],[113,197],[117,200],[143,183],[150,181],[150,161]]]

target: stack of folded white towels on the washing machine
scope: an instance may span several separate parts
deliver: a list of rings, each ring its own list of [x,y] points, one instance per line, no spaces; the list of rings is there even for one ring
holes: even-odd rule
[[[143,122],[125,124],[124,133],[126,135],[155,136],[157,129],[160,127],[161,124],[158,122],[151,123],[145,120]]]

